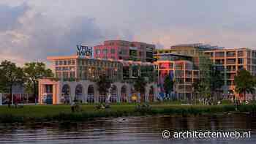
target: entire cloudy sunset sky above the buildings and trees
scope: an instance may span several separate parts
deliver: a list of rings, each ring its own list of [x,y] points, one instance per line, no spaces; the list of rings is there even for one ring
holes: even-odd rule
[[[255,0],[1,0],[0,61],[68,56],[108,39],[256,48]]]

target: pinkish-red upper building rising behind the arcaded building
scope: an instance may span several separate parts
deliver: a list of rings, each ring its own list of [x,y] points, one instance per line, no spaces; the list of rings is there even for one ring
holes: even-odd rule
[[[145,42],[108,40],[94,46],[94,58],[152,62],[155,45]]]

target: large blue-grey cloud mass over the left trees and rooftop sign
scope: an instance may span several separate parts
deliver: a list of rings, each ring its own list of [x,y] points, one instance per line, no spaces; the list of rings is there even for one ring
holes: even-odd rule
[[[0,25],[1,59],[7,58],[20,63],[45,61],[47,56],[75,54],[78,44],[96,45],[104,39],[121,35],[121,31],[100,29],[94,18],[86,16],[60,20],[43,12],[35,12],[27,4],[5,7],[7,10],[0,15],[14,16],[7,22],[9,26]]]

